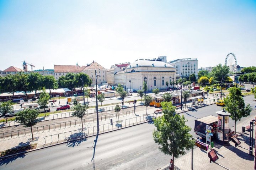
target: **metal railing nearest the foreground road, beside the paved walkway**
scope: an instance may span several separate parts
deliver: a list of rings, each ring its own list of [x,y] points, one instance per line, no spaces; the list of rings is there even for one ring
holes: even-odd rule
[[[154,117],[159,117],[159,116],[162,116],[162,113],[157,114],[157,115],[148,114],[148,116],[146,116],[146,115],[137,116],[137,117],[133,117],[130,119],[122,120],[121,123],[120,123],[120,121],[119,122],[116,121],[113,123],[103,124],[103,125],[99,126],[99,134],[118,130],[118,129],[121,129],[124,127],[138,125],[138,124],[144,123],[144,122],[150,122],[153,120]],[[75,139],[89,137],[89,136],[93,136],[96,134],[97,134],[97,126],[92,126],[92,127],[87,127],[83,131],[82,130],[74,130],[74,131],[69,131],[69,132],[58,133],[55,135],[49,135],[49,136],[44,137],[44,147],[51,145],[51,144],[72,141]]]

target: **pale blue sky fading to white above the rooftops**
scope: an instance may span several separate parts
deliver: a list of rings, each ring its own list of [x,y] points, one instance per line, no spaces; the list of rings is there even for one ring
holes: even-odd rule
[[[167,56],[256,66],[256,1],[0,0],[0,70]],[[30,69],[30,67],[28,67]]]

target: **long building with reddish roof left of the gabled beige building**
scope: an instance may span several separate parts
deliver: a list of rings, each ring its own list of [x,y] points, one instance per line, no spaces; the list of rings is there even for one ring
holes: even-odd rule
[[[72,65],[54,65],[54,78],[58,79],[61,76],[66,76],[68,73],[80,73],[86,66]]]

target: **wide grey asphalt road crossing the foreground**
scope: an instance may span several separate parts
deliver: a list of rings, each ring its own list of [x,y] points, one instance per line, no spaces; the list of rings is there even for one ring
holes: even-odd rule
[[[245,103],[255,106],[253,96],[245,97]],[[215,115],[221,106],[209,105],[193,111],[182,113],[192,128],[194,120],[208,115]],[[242,118],[241,121],[253,119],[251,116]],[[229,127],[234,126],[230,119]],[[158,150],[152,138],[153,124],[142,124],[122,130],[105,133],[98,136],[94,153],[94,140],[89,137],[84,141],[61,144],[58,146],[37,150],[34,152],[17,155],[0,161],[0,169],[157,169],[166,165],[170,157]],[[95,168],[94,168],[95,167]]]

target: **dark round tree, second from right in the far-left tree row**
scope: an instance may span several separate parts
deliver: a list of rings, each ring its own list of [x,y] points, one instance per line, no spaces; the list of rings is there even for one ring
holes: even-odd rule
[[[35,95],[37,95],[37,91],[42,88],[43,84],[43,76],[39,73],[30,73],[28,75],[28,90],[35,91]]]

